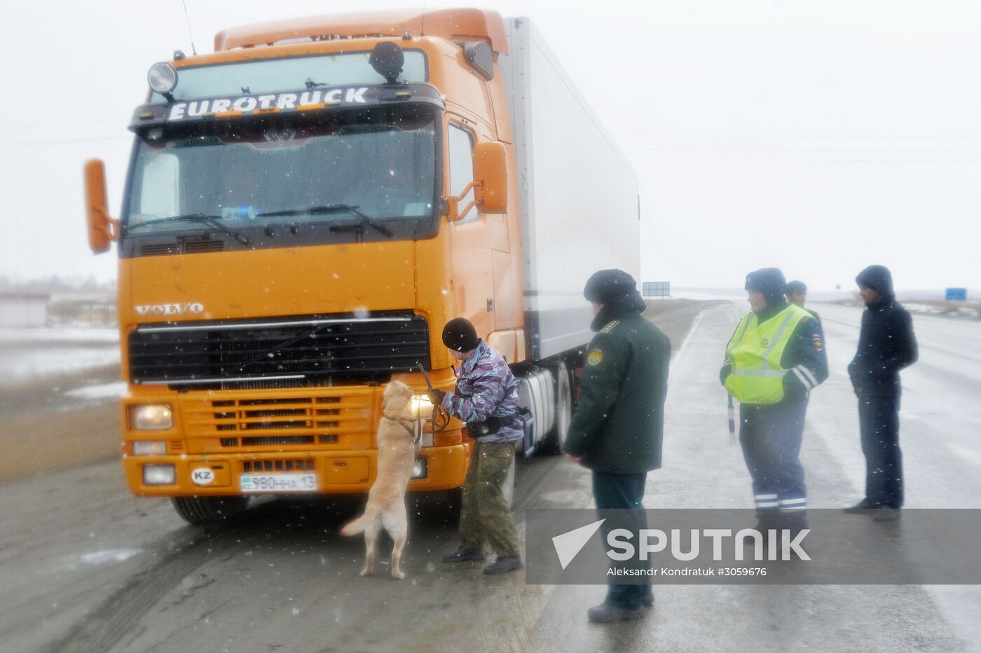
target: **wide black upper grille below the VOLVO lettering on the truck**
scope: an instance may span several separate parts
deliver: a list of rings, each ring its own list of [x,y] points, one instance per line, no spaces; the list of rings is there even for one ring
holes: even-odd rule
[[[247,387],[386,380],[429,367],[429,325],[408,311],[138,326],[129,334],[134,383]],[[277,417],[288,418],[288,409]],[[288,422],[289,420],[284,420]]]

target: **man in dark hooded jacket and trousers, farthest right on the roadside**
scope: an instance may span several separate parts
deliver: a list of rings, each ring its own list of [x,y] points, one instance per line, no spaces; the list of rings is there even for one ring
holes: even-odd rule
[[[858,397],[865,498],[845,512],[874,510],[877,522],[890,522],[899,519],[903,507],[900,370],[916,362],[916,336],[909,313],[896,301],[887,268],[869,266],[855,282],[865,312],[849,376]]]

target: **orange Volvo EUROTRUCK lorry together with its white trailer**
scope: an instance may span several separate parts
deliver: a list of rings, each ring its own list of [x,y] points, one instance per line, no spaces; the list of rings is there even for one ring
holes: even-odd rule
[[[442,327],[519,378],[526,455],[560,442],[589,341],[583,282],[639,272],[637,178],[524,19],[474,9],[235,27],[176,52],[133,112],[117,243],[124,468],[191,523],[253,494],[371,486],[386,384],[411,385],[409,489],[463,482]]]

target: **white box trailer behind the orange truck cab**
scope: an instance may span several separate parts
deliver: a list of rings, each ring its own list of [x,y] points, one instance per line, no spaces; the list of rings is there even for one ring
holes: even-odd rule
[[[590,341],[586,279],[619,268],[641,278],[637,174],[527,18],[504,19],[497,65],[517,155],[527,356]]]

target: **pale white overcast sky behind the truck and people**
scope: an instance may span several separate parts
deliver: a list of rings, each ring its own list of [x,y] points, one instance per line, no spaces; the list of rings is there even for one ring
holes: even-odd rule
[[[227,26],[422,2],[186,4],[201,53]],[[899,289],[981,290],[981,3],[480,6],[530,17],[630,155],[645,280],[738,287],[778,266],[850,288],[880,263]],[[146,70],[191,49],[181,0],[5,2],[0,22],[0,276],[113,278],[81,166],[106,161],[118,216]]]

